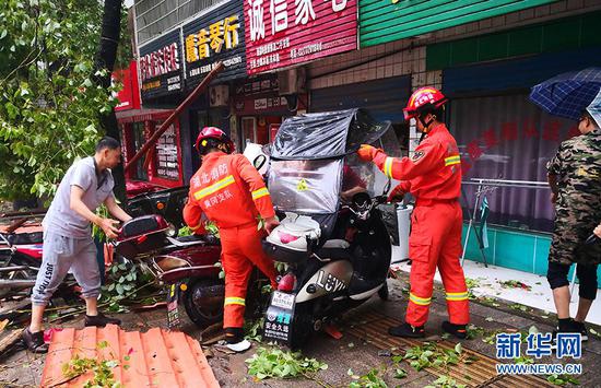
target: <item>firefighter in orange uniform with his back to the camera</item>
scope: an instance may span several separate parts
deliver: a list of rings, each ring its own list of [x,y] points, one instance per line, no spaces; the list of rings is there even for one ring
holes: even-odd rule
[[[234,143],[221,129],[203,128],[196,148],[202,165],[190,180],[184,220],[195,233],[203,233],[204,213],[220,230],[225,271],[223,327],[227,346],[241,352],[250,348],[244,340],[243,326],[252,266],[270,279],[273,287],[276,285],[273,261],[261,248],[264,231],[257,228],[258,216],[263,217],[268,232],[279,222],[263,179],[244,155],[232,154]]]

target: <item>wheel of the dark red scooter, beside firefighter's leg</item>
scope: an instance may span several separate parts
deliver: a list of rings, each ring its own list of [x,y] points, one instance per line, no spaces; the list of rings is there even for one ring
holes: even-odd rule
[[[200,328],[223,320],[225,286],[219,279],[198,279],[188,284],[184,293],[184,307],[188,317]]]

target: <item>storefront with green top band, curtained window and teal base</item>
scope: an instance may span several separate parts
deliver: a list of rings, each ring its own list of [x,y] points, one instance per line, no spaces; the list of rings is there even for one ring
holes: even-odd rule
[[[543,113],[528,95],[539,82],[601,63],[601,37],[592,28],[599,16],[590,12],[427,48],[426,68],[443,71],[451,99],[447,121],[462,153],[463,179],[508,181],[485,195],[490,262],[546,271],[554,223],[546,163],[579,132],[576,122]],[[542,188],[515,187],[520,181]],[[472,208],[476,189],[464,185]],[[467,256],[480,257],[473,234],[470,242]]]

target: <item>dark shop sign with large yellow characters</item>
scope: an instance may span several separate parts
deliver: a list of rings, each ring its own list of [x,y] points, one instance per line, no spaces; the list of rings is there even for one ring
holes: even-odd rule
[[[219,61],[225,69],[217,81],[246,77],[243,5],[229,1],[182,27],[186,82],[197,85]]]

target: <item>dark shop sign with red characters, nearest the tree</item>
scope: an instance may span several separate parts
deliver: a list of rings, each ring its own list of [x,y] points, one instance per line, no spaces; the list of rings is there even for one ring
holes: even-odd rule
[[[140,47],[142,99],[179,93],[184,89],[179,30]]]

